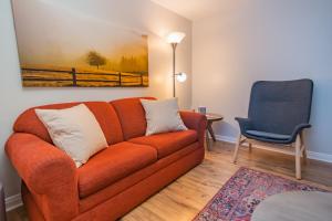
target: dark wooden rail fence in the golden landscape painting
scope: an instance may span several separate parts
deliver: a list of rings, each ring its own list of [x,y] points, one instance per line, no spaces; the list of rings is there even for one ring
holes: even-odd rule
[[[133,72],[116,72],[116,73],[105,73],[105,72],[77,72],[76,69],[66,70],[52,70],[52,69],[21,69],[22,73],[39,73],[45,74],[45,76],[25,76],[22,75],[23,82],[69,82],[71,86],[80,86],[80,83],[114,83],[115,86],[144,86],[144,73],[133,73]],[[49,77],[48,73],[59,73],[59,74],[70,74],[71,77]],[[80,75],[84,76],[98,76],[95,78],[82,78]],[[104,78],[103,78],[104,76]],[[116,76],[117,80],[106,80],[105,76]],[[123,85],[123,78],[135,78],[138,80],[138,84]]]

